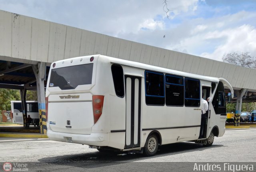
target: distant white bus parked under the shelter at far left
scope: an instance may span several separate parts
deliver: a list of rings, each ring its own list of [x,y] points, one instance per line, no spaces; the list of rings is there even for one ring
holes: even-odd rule
[[[34,123],[38,124],[39,122],[38,102],[26,101],[26,104],[27,104],[27,115],[30,115],[30,117],[33,119],[32,122],[35,121]],[[11,109],[12,109],[12,116],[13,116],[12,123],[23,125],[23,113],[22,113],[21,101],[11,101]]]

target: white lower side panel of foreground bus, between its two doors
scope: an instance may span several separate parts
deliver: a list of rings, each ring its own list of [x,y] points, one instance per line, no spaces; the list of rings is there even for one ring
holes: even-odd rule
[[[143,78],[142,83],[144,82],[145,81]],[[158,132],[160,132],[162,137],[162,144],[196,140],[198,138],[200,130],[201,111],[194,110],[195,107],[146,105],[145,84],[142,84],[141,107],[141,147],[144,147],[148,134],[150,134],[152,130],[157,130]]]

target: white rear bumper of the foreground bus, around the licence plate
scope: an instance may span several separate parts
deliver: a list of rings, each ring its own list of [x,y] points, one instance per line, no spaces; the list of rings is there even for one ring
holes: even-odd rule
[[[109,133],[72,134],[64,132],[54,132],[47,130],[50,140],[66,142],[67,137],[71,137],[73,143],[86,144],[91,146],[108,146]]]

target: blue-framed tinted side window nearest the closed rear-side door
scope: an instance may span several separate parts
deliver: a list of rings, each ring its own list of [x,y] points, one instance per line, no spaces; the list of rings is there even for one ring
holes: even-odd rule
[[[145,71],[146,104],[164,105],[164,74]]]

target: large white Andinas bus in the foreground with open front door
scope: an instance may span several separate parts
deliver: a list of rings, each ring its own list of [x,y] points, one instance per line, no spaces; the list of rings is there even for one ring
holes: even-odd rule
[[[194,141],[212,145],[225,132],[223,78],[189,74],[102,55],[52,63],[46,88],[47,135],[100,151],[138,150]],[[199,139],[201,98],[210,97]]]

